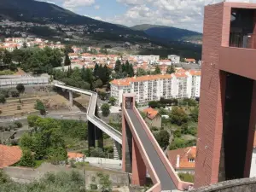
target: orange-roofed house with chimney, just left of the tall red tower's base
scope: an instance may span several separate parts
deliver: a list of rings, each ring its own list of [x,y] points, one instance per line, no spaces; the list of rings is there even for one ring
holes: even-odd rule
[[[178,172],[195,173],[196,146],[168,151],[168,159]]]

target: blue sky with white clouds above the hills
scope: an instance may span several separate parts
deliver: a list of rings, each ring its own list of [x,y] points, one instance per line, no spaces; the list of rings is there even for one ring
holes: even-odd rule
[[[41,0],[124,26],[154,24],[202,32],[204,6],[223,0]],[[237,0],[233,0],[237,1]]]

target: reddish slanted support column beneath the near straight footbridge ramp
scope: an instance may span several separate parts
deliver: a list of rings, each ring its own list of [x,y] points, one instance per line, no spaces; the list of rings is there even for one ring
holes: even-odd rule
[[[143,186],[146,183],[146,166],[143,157],[137,148],[137,143],[132,139],[132,176],[131,184]]]

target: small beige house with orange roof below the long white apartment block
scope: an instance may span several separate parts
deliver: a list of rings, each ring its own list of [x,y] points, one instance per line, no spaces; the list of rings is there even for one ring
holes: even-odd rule
[[[143,110],[146,113],[145,121],[148,125],[160,128],[162,125],[162,119],[160,114],[154,108],[146,108]]]

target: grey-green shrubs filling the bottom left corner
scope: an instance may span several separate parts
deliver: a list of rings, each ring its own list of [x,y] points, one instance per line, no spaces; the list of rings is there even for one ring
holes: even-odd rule
[[[15,183],[0,172],[1,192],[84,192],[84,177],[79,172],[47,173],[33,183]]]

